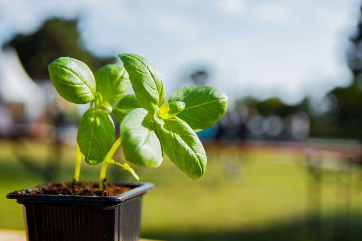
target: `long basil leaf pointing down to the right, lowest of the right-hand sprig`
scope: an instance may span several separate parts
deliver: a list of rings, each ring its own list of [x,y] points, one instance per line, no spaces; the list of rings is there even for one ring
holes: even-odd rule
[[[164,125],[153,122],[153,129],[169,159],[192,179],[205,173],[206,153],[191,127],[180,118],[164,120]]]

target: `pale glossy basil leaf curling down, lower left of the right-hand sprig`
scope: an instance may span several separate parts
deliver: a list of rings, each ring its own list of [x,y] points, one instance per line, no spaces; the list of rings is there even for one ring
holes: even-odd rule
[[[125,116],[120,127],[122,150],[131,163],[158,167],[163,151],[147,113],[143,108],[136,108]]]

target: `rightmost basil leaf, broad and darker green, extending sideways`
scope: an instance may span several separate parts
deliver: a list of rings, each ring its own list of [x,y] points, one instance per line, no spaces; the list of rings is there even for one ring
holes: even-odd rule
[[[185,109],[177,115],[195,132],[209,128],[224,115],[228,98],[212,86],[183,86],[171,94],[169,102],[182,101]]]

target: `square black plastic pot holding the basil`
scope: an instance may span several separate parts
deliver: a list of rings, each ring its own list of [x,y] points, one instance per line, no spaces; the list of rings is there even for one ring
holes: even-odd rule
[[[146,182],[115,182],[133,189],[113,197],[14,195],[23,206],[28,241],[138,241]]]

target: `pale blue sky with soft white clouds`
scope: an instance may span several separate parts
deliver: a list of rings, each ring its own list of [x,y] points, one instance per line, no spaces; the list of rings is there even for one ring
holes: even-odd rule
[[[209,85],[235,100],[277,96],[287,104],[348,86],[348,36],[357,0],[0,0],[0,43],[50,17],[79,17],[85,48],[137,53],[161,73],[167,95],[207,68]]]

